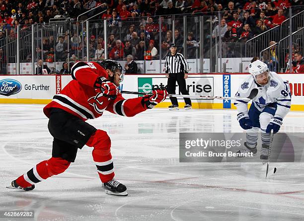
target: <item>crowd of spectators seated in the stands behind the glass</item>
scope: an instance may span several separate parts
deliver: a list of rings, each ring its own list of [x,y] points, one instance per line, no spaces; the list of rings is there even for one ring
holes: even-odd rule
[[[113,60],[127,61],[129,55],[134,60],[159,59],[168,53],[173,35],[178,52],[183,52],[186,47],[187,58],[194,58],[201,43],[205,50],[210,46],[210,41],[214,44],[220,37],[224,42],[246,42],[280,25],[287,18],[290,6],[304,4],[303,0],[0,0],[0,48],[4,43],[6,29],[9,41],[13,41],[18,24],[22,30],[31,24],[49,23],[50,19],[61,16],[69,17],[73,21],[79,14],[103,3],[107,3],[107,6],[102,5],[96,11],[92,10],[85,18],[105,10],[94,19],[99,22],[102,19],[108,20],[107,45],[104,44],[103,33],[99,32],[90,34],[87,49],[85,29],[80,35],[75,31],[70,33],[70,39],[67,33],[63,36],[46,36],[43,47],[36,47],[35,60],[42,59],[43,54],[43,60],[47,62],[52,62],[55,58],[56,61],[67,61],[69,48],[70,61],[79,60],[80,57],[85,59],[79,54],[86,57],[87,50],[90,60],[99,61],[105,57],[105,47],[108,57]],[[303,9],[302,6],[294,8],[294,13]],[[177,18],[181,14],[209,15],[211,20],[205,20],[204,25],[211,23],[213,31],[206,34],[204,41],[200,41],[197,32],[195,34],[193,30],[186,31],[184,41],[181,23],[177,21],[174,33],[170,30],[172,27],[168,18],[172,14]],[[160,16],[161,26],[158,17],[154,16]],[[29,62],[31,59],[29,53],[22,61]]]

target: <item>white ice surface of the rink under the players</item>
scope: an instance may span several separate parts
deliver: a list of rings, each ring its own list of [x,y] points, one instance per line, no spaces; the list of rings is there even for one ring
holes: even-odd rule
[[[278,171],[265,179],[262,163],[179,162],[179,132],[243,132],[235,110],[154,109],[88,121],[110,135],[127,197],[105,194],[86,146],[65,173],[35,190],[6,189],[51,156],[43,107],[0,105],[1,211],[34,210],[37,221],[304,220],[304,163],[272,163]],[[304,113],[290,112],[281,132],[304,132]]]

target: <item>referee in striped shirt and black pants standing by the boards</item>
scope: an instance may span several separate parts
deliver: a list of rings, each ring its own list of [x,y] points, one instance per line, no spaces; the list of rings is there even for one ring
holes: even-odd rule
[[[168,77],[167,91],[169,94],[175,94],[176,81],[179,86],[179,90],[184,95],[189,95],[186,86],[186,80],[188,78],[188,62],[184,56],[176,52],[176,45],[172,43],[170,45],[170,53],[165,59],[165,72]],[[169,110],[178,110],[178,102],[176,97],[170,97],[172,105],[169,106]],[[190,98],[184,98],[186,105],[185,110],[192,108]]]

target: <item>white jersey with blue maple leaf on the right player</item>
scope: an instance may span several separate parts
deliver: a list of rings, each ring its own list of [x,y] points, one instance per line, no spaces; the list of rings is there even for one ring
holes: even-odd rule
[[[284,118],[290,111],[291,107],[291,92],[289,83],[284,81],[279,74],[269,72],[268,83],[263,86],[258,86],[252,75],[248,76],[238,88],[235,97],[248,97],[251,90],[257,88],[259,90],[257,96],[252,99],[252,103],[262,111],[267,105],[277,103],[277,111],[275,117]],[[248,113],[247,101],[235,100],[234,105],[238,113]]]

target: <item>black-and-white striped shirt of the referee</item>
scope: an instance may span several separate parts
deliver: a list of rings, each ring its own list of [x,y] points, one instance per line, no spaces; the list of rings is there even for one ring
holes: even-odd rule
[[[174,56],[169,53],[165,60],[165,73],[177,74],[184,72],[188,74],[189,65],[184,56],[180,53],[175,53]]]

